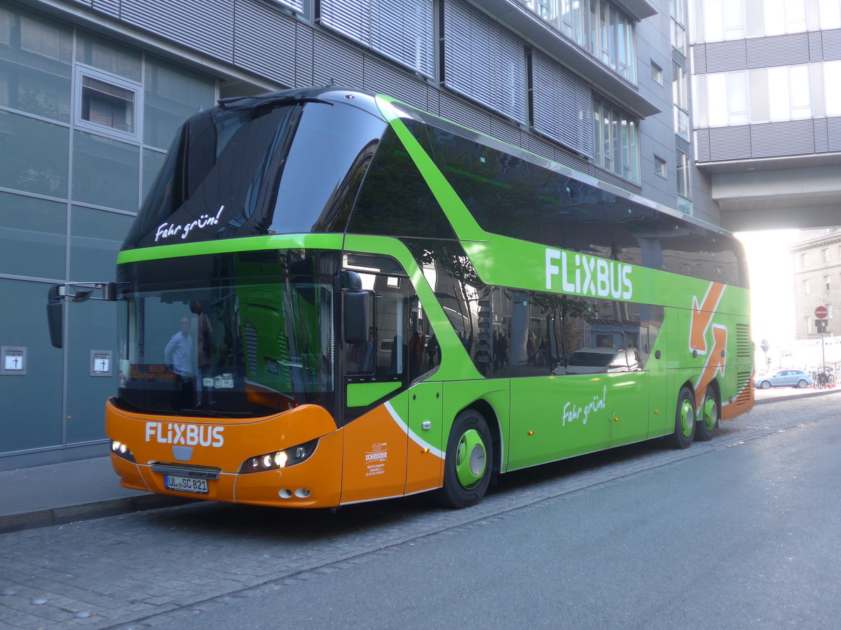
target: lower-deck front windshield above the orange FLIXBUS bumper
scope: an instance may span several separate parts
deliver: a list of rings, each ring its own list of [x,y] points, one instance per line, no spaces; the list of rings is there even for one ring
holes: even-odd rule
[[[121,402],[180,415],[330,408],[333,281],[315,258],[267,250],[122,265],[135,284],[120,301]]]

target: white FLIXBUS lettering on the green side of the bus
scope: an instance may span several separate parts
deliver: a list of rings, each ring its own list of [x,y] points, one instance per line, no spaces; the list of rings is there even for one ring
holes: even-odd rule
[[[560,261],[559,265],[556,260]],[[546,249],[546,288],[549,291],[553,290],[553,281],[557,285],[559,279],[561,291],[565,293],[629,300],[633,295],[631,271],[631,265],[616,260]]]

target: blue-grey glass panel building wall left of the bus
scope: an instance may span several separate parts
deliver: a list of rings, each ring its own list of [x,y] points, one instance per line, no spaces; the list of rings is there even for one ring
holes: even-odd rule
[[[116,376],[92,363],[115,350],[114,304],[67,309],[66,347],[55,349],[46,291],[114,280],[172,134],[216,93],[212,76],[0,4],[0,344],[25,360],[0,375],[0,454],[10,465],[102,443]]]

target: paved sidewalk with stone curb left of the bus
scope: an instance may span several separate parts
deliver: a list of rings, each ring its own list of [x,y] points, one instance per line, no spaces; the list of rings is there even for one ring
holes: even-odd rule
[[[191,501],[119,485],[108,456],[0,471],[0,533]]]

